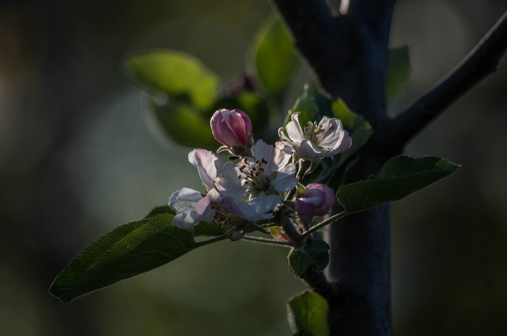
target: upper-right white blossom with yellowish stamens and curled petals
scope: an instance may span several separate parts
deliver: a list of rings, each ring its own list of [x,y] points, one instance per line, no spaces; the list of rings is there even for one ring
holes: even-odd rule
[[[317,122],[309,121],[306,131],[303,132],[298,120],[300,113],[293,113],[292,120],[285,126],[288,138],[283,133],[283,127],[278,129],[278,135],[282,140],[281,146],[277,144],[278,147],[289,147],[296,154],[311,159],[333,157],[345,152],[352,145],[352,139],[343,129],[339,119],[324,116],[318,125]]]

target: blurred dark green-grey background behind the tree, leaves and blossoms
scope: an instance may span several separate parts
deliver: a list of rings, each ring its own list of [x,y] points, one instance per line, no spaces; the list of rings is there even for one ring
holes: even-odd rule
[[[391,45],[410,47],[413,75],[390,113],[505,10],[505,0],[397,1]],[[105,232],[201,185],[190,149],[163,135],[122,57],[182,50],[226,87],[270,12],[266,0],[1,3],[0,334],[289,334],[285,301],[305,286],[279,247],[225,241],[66,306],[48,293]],[[504,59],[406,149],[463,167],[391,206],[396,335],[507,334],[506,110]]]

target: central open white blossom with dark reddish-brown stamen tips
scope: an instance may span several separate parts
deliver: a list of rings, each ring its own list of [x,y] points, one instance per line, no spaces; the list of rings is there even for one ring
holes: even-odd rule
[[[213,186],[223,196],[243,198],[247,192],[250,199],[276,191],[289,191],[296,187],[296,165],[287,164],[290,154],[259,140],[253,149],[253,158],[245,157],[234,164],[224,164],[224,175],[231,180],[216,177]],[[255,198],[254,198],[255,199]]]

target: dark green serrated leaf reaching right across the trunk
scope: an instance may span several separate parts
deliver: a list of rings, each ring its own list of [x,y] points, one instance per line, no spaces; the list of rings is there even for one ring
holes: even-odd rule
[[[443,158],[394,156],[378,176],[342,185],[336,197],[347,212],[357,212],[402,199],[459,169]]]

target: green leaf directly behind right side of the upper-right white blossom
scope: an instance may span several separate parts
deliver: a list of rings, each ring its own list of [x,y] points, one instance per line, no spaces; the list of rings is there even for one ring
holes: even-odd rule
[[[331,103],[333,116],[343,123],[343,128],[352,139],[350,148],[342,153],[338,166],[347,161],[361,146],[363,146],[373,134],[373,128],[363,117],[350,111],[345,102],[338,98]]]

